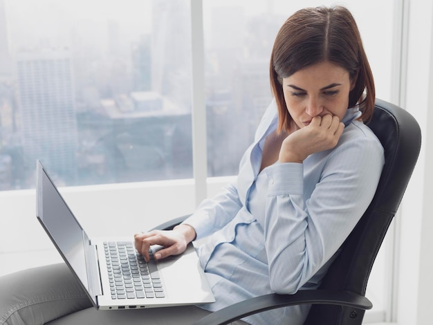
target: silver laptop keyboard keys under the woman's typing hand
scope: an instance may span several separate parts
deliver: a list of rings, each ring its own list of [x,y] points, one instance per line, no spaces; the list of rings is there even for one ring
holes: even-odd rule
[[[112,299],[164,298],[156,262],[136,251],[131,241],[104,242]]]

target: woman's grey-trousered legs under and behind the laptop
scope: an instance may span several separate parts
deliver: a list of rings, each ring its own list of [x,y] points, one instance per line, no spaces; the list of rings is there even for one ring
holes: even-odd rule
[[[210,313],[196,306],[97,310],[64,263],[3,276],[0,288],[0,325],[190,325]]]

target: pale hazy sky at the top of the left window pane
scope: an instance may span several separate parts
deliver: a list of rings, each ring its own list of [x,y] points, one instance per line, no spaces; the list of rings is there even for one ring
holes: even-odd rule
[[[4,0],[11,49],[35,46],[68,46],[72,30],[82,41],[104,41],[107,21],[119,23],[125,37],[149,32],[151,0]]]

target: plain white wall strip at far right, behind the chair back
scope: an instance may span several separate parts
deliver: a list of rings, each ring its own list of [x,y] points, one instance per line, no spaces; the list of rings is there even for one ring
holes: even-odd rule
[[[400,209],[398,304],[401,325],[432,324],[432,1],[409,3],[409,44],[405,109],[421,125],[423,145],[418,165]]]

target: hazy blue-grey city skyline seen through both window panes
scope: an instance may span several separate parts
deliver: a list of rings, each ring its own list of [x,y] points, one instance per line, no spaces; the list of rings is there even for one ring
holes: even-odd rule
[[[98,23],[66,19],[62,28],[46,33],[46,26],[40,27],[41,37],[27,44],[30,33],[24,33],[10,47],[15,68],[1,84],[9,97],[0,98],[0,116],[11,115],[0,120],[2,189],[33,187],[36,158],[48,160],[46,165],[65,185],[192,177],[191,36],[185,3],[151,1],[150,34],[135,30],[123,37],[127,28],[113,17]],[[54,14],[59,10],[65,12],[57,6]],[[272,42],[264,35],[274,35],[278,23],[266,16],[251,20],[247,11],[221,7],[209,16],[205,75],[210,176],[236,173],[270,100],[266,74]],[[20,35],[15,32],[12,27],[6,34]],[[68,57],[64,68],[59,68],[59,53]],[[41,66],[40,75],[35,74]],[[71,74],[53,84],[66,71]],[[171,113],[138,113],[153,105],[151,93],[172,106]],[[40,112],[35,115],[35,110]],[[239,120],[246,123],[234,127]],[[221,149],[227,153],[223,158]]]

